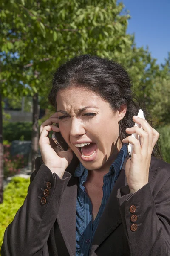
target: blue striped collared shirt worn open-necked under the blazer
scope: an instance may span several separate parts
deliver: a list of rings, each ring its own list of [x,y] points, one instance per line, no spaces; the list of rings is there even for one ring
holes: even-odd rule
[[[85,169],[82,163],[79,163],[79,166],[77,166],[74,173],[74,177],[79,177],[76,212],[76,256],[88,256],[94,233],[126,156],[127,144],[124,144],[116,160],[111,165],[109,172],[103,177],[103,198],[94,222],[92,204],[83,186],[88,176],[88,170]]]

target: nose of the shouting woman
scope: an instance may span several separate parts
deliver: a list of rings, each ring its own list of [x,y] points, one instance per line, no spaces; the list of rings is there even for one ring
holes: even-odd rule
[[[86,133],[85,128],[79,118],[73,118],[71,122],[70,136],[79,137]]]

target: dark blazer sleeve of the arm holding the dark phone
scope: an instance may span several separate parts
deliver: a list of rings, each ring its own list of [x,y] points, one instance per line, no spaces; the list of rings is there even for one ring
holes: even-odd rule
[[[70,178],[71,174],[65,172],[60,179],[40,158],[36,159],[28,195],[6,228],[1,256],[42,256]]]

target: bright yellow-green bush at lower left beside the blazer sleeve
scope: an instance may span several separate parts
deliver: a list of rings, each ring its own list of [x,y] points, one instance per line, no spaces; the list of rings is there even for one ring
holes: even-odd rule
[[[13,221],[26,198],[29,183],[29,179],[14,177],[4,189],[3,204],[0,204],[0,247],[6,227]]]

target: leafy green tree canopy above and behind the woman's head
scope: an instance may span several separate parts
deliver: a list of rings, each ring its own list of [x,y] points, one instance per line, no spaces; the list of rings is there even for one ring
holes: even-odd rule
[[[53,71],[74,55],[91,53],[122,63],[136,94],[149,105],[160,67],[149,50],[137,48],[134,35],[127,34],[130,15],[123,8],[116,0],[0,3],[2,94],[38,92],[45,99]]]

